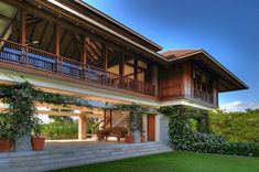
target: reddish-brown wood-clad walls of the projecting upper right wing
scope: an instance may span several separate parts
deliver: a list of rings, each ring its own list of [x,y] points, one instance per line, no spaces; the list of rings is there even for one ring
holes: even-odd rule
[[[205,93],[194,88],[193,71],[202,72],[213,82],[212,93]],[[177,98],[190,98],[205,101],[211,105],[218,105],[218,82],[217,77],[209,74],[204,68],[196,66],[192,61],[186,61],[160,67],[159,69],[159,98],[160,100],[171,100]]]

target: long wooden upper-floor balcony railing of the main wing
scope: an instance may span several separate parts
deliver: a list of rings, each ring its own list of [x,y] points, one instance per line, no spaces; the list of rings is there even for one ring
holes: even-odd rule
[[[0,39],[0,62],[66,75],[90,83],[134,90],[154,96],[155,87],[149,83],[84,65],[77,61],[56,56],[31,46]]]

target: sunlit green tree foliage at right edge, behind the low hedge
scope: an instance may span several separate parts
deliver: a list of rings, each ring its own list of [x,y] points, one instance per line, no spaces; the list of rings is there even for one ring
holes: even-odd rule
[[[211,111],[211,128],[231,142],[259,142],[259,109],[245,112]]]

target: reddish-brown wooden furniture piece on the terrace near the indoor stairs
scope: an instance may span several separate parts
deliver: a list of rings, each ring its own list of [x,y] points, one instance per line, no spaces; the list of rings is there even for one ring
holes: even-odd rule
[[[121,138],[125,138],[128,135],[128,130],[125,127],[111,127],[97,132],[98,141],[108,140],[108,137],[117,137],[117,141],[120,142]]]

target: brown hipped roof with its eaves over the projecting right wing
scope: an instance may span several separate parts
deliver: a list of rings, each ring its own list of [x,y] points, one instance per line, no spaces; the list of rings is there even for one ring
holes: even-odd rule
[[[234,75],[230,71],[228,71],[224,65],[222,65],[204,50],[171,50],[161,54],[165,58],[168,58],[170,63],[176,63],[186,60],[196,60],[199,62],[204,62],[206,67],[212,68],[213,71],[218,73],[218,75],[220,76],[219,84],[229,85],[228,88],[219,88],[219,92],[248,89],[248,86],[241,79],[239,79],[236,75]]]

